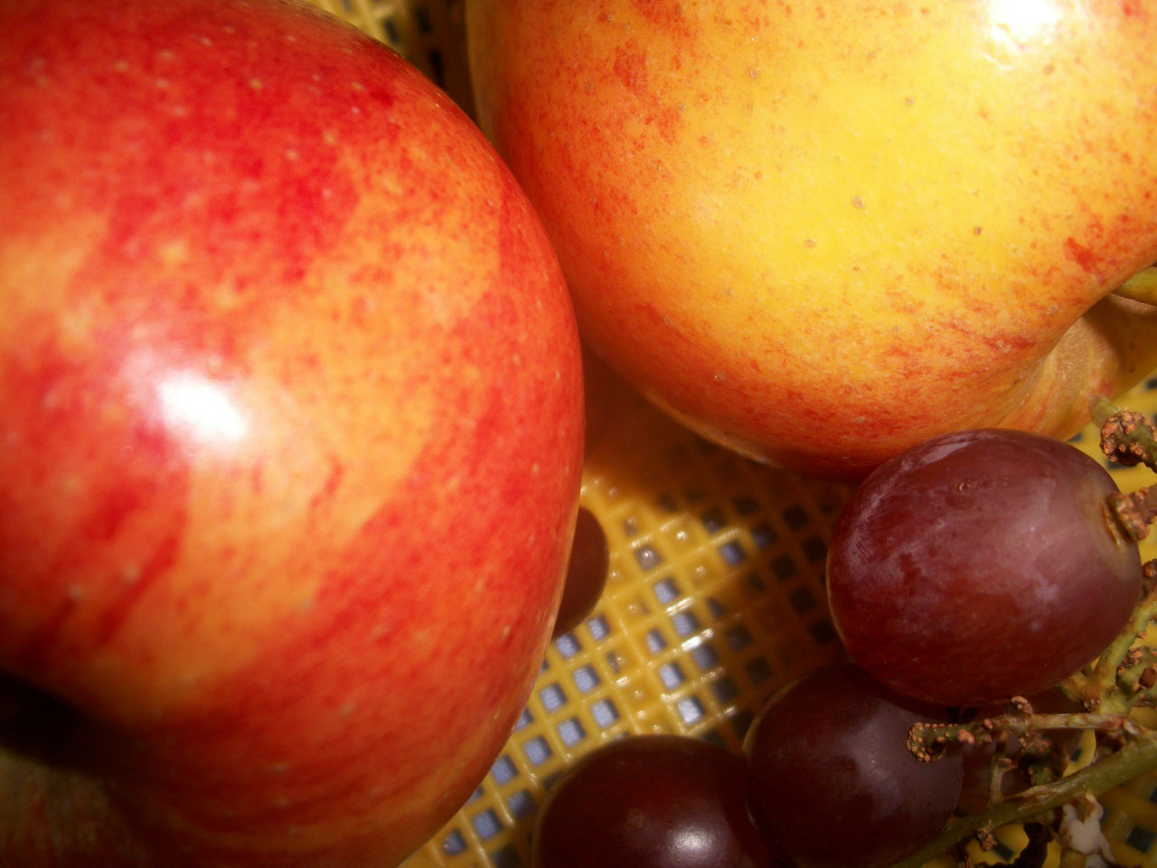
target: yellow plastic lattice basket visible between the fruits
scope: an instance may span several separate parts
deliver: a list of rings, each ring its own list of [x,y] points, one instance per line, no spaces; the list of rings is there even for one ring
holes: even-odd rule
[[[469,110],[459,0],[314,2],[398,49]],[[576,757],[653,731],[738,749],[778,686],[840,653],[823,573],[847,490],[707,444],[597,365],[589,387],[582,498],[611,545],[606,591],[551,646],[486,780],[406,868],[529,866],[538,807]],[[1157,413],[1157,375],[1122,403]],[[1078,444],[1099,455],[1091,429]],[[1125,490],[1151,478],[1143,468],[1113,472]],[[1157,543],[1143,553],[1157,557]],[[1104,803],[1120,863],[1157,868],[1157,775]]]

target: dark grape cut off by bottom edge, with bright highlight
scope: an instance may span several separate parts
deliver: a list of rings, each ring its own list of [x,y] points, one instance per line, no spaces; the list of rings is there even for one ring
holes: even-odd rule
[[[744,802],[743,757],[648,735],[585,755],[543,803],[537,868],[768,868]]]

